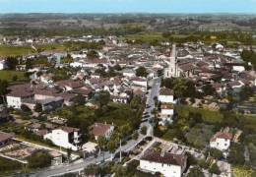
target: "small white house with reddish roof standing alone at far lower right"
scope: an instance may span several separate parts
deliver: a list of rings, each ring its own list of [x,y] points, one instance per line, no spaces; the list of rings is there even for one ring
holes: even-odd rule
[[[227,150],[230,147],[230,142],[232,140],[232,134],[218,132],[214,135],[214,137],[210,140],[210,147],[217,148],[222,151]]]

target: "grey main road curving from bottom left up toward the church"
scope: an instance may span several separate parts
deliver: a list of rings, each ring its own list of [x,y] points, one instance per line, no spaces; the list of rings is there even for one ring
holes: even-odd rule
[[[111,160],[112,156],[119,153],[121,151],[130,151],[135,148],[142,140],[146,137],[153,137],[154,136],[154,126],[152,125],[152,119],[154,115],[152,115],[152,111],[155,109],[155,100],[154,98],[158,96],[160,93],[160,78],[153,79],[151,81],[151,89],[147,96],[147,107],[144,111],[145,114],[150,115],[146,122],[141,123],[140,128],[146,126],[147,127],[147,135],[139,135],[138,140],[130,140],[126,143],[126,145],[122,146],[121,148],[117,148],[114,154],[111,154],[107,151],[102,152],[97,157],[90,157],[86,159],[79,159],[75,162],[69,164],[63,164],[59,166],[53,166],[51,168],[43,169],[36,174],[32,174],[32,177],[52,177],[52,176],[59,176],[67,173],[74,173],[83,171],[85,167],[90,164],[99,164],[103,161]]]

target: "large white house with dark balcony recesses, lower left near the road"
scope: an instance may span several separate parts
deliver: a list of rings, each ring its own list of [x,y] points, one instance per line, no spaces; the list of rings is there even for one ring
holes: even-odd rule
[[[60,127],[43,136],[44,140],[50,140],[56,146],[72,150],[79,149],[80,138],[80,130],[72,127]]]

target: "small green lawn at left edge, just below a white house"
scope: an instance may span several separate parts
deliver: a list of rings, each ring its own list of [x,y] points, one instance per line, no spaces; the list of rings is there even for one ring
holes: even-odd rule
[[[13,80],[15,76],[17,76],[16,81]],[[16,83],[27,82],[28,78],[25,77],[25,72],[3,70],[0,71],[0,80],[6,80],[10,83]]]

